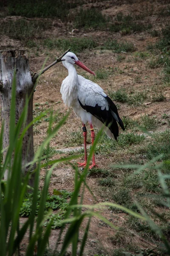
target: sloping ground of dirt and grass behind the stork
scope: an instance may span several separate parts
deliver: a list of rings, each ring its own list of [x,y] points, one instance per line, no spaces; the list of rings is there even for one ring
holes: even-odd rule
[[[100,2],[98,5],[102,9]],[[33,70],[40,68],[46,57],[50,63],[55,55],[71,47],[71,50],[95,71],[96,77],[92,77],[78,70],[80,74],[102,86],[114,100],[120,116],[124,116],[126,131],[120,134],[118,143],[109,140],[105,135],[102,136],[96,148],[99,169],[89,171],[88,182],[90,185],[95,183],[92,189],[102,201],[107,199],[138,211],[135,204],[137,200],[148,213],[152,214],[152,209],[155,209],[165,219],[169,219],[167,208],[162,207],[159,198],[153,196],[162,192],[156,170],[147,168],[134,174],[133,168],[113,167],[113,164],[122,163],[143,164],[162,153],[164,157],[161,157],[160,163],[163,159],[170,159],[169,6],[161,6],[159,3],[155,7],[148,2],[143,11],[140,11],[139,3],[136,6],[127,4],[124,9],[119,6],[116,12],[113,12],[113,6],[109,6],[102,11],[107,16],[103,16],[99,11],[95,12],[95,9],[91,9],[91,13],[80,10],[76,19],[70,16],[71,22],[64,24],[54,18],[45,22],[42,19],[25,18],[4,21],[2,18],[0,22],[3,23],[3,30],[0,33],[4,38],[8,37],[13,46],[17,43],[19,47],[28,48],[30,67]],[[92,16],[95,19],[91,20]],[[71,32],[72,29],[76,30]],[[34,125],[35,148],[46,136],[51,109],[55,113],[56,122],[66,112],[59,94],[61,81],[66,75],[66,70],[59,64],[40,78],[34,97],[34,116],[44,111],[47,111],[47,114]],[[155,131],[155,135],[144,136],[141,126],[146,131]],[[57,148],[82,145],[81,134],[81,122],[77,122],[71,112],[62,131],[59,131],[51,143],[53,157],[59,157],[59,153],[61,154],[56,154]],[[90,141],[88,133],[88,143]],[[82,149],[80,151],[82,152]],[[69,151],[62,154],[73,153],[74,151]],[[67,169],[68,165],[62,164],[60,168]],[[164,165],[164,172],[169,173],[167,165]],[[63,184],[56,184],[55,179],[54,175],[51,191],[56,186],[57,189],[72,189],[69,184],[71,178],[64,178]],[[170,186],[169,183],[167,185]],[[154,248],[159,244],[159,238],[146,223],[136,221],[125,214],[123,216],[124,221],[121,222],[122,212],[111,209],[109,217],[114,221],[117,218],[121,223],[118,232],[104,239],[105,242],[110,241],[110,248],[116,249],[113,255],[123,255],[122,248],[133,253],[137,250],[144,253],[147,247]],[[163,227],[164,221],[160,225]],[[104,232],[105,227],[99,227],[101,232]],[[168,227],[163,229],[164,234],[168,235]],[[99,237],[96,236],[96,239]],[[104,244],[102,239],[99,240]],[[121,249],[118,250],[119,248]],[[96,252],[98,251],[96,246]],[[147,255],[150,255],[149,252]],[[158,249],[155,255],[164,254]]]

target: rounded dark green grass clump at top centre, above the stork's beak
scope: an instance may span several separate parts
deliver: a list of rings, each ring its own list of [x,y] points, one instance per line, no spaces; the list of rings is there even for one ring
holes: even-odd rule
[[[80,9],[74,16],[74,26],[84,29],[105,29],[109,18],[97,9]]]

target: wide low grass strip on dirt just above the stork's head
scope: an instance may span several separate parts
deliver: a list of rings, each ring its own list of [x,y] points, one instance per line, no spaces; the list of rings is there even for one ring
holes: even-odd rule
[[[93,49],[97,43],[92,38],[70,38],[53,40],[47,38],[44,40],[44,46],[49,49],[57,48],[65,51],[71,48],[72,52],[82,52],[85,49]]]

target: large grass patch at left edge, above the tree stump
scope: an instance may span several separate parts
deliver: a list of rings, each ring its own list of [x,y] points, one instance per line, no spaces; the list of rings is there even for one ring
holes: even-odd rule
[[[1,35],[5,34],[14,39],[27,41],[32,38],[43,38],[43,32],[52,28],[52,22],[20,18],[17,20],[9,20],[7,22],[2,20],[0,26]]]

